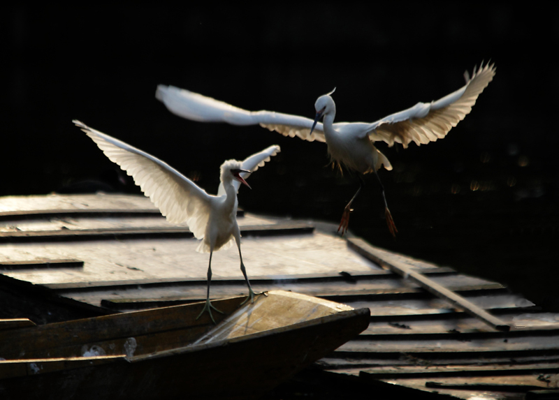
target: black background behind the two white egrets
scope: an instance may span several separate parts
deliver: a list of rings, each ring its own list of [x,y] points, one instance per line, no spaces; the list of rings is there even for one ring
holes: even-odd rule
[[[75,190],[85,179],[140,193],[128,177],[119,184],[71,123],[80,119],[210,193],[225,159],[278,144],[240,205],[337,223],[358,180],[326,168],[326,145],[180,119],[154,98],[157,84],[310,118],[317,96],[337,87],[337,121],[375,121],[449,94],[466,69],[491,59],[495,80],[447,138],[405,150],[378,144],[394,166],[380,175],[398,237],[373,176],[350,229],[559,310],[559,8],[521,4],[4,6],[0,195]]]

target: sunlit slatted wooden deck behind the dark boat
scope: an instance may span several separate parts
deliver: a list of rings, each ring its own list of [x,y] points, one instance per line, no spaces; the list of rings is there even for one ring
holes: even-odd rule
[[[559,397],[559,314],[500,283],[342,239],[330,225],[238,220],[255,292],[370,309],[368,329],[317,362],[321,373],[389,392]],[[34,283],[89,313],[205,299],[208,254],[196,246],[187,226],[166,223],[143,197],[0,198],[0,283]],[[215,253],[213,298],[247,294],[239,266],[234,247]]]

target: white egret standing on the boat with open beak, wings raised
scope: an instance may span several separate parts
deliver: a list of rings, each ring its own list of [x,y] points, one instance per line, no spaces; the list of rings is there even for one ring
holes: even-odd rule
[[[73,123],[87,133],[89,138],[92,138],[110,161],[117,163],[122,170],[133,177],[136,185],[140,186],[143,193],[159,208],[161,214],[167,217],[167,221],[170,223],[186,222],[194,233],[194,237],[202,239],[196,251],[210,253],[210,262],[208,265],[208,294],[205,306],[198,318],[204,311],[208,311],[215,323],[211,309],[219,310],[210,303],[212,253],[220,249],[228,249],[233,245],[233,241],[237,243],[240,270],[245,276],[249,289],[247,300],[250,299],[251,302],[254,302],[254,292],[250,286],[240,252],[237,193],[240,184],[249,186],[245,179],[252,172],[262,167],[266,161],[270,161],[270,156],[279,153],[279,146],[270,146],[259,153],[252,154],[244,161],[225,161],[221,167],[221,184],[217,195],[209,195],[159,158],[89,128],[80,121],[74,120]]]

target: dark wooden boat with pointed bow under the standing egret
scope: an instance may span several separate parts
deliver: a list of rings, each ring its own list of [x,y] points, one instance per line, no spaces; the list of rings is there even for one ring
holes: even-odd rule
[[[0,331],[2,399],[252,399],[331,353],[369,310],[281,290]],[[2,324],[0,324],[2,325]],[[27,324],[29,325],[29,324]]]

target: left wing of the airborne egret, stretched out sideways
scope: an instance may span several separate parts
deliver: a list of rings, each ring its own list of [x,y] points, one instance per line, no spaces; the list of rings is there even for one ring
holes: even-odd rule
[[[155,97],[166,105],[173,114],[186,119],[202,122],[226,122],[232,125],[260,125],[284,136],[310,142],[325,142],[322,124],[317,124],[310,135],[312,119],[273,111],[247,111],[234,105],[203,96],[192,91],[160,84]]]

